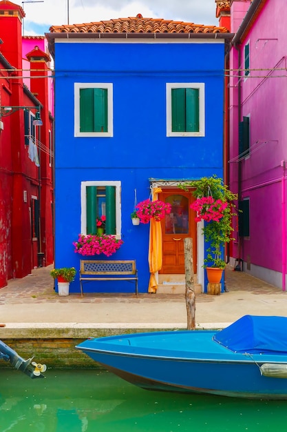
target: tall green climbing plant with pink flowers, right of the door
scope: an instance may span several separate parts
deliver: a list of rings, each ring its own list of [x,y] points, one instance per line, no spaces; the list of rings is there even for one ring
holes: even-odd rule
[[[237,195],[232,193],[216,175],[189,181],[181,187],[194,189],[193,196],[196,199],[191,204],[191,208],[196,212],[195,221],[205,222],[202,231],[205,242],[209,242],[209,248],[207,257],[204,259],[206,264],[204,267],[209,264],[209,266],[224,268],[226,264],[222,259],[222,248],[224,244],[234,240],[232,218],[237,213],[233,202],[237,199]]]

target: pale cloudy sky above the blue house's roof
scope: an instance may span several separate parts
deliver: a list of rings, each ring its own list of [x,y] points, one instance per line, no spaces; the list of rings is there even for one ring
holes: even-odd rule
[[[10,0],[25,11],[23,34],[44,35],[50,26],[136,17],[218,26],[215,0]]]

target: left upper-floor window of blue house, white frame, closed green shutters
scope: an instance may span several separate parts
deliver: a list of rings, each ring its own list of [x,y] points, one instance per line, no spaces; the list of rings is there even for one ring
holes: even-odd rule
[[[74,136],[113,136],[113,84],[74,84]]]

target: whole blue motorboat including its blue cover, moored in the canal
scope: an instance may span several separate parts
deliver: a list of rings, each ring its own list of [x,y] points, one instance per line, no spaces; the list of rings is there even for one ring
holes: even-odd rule
[[[245,315],[221,331],[89,338],[93,360],[148,390],[287,400],[287,317]]]

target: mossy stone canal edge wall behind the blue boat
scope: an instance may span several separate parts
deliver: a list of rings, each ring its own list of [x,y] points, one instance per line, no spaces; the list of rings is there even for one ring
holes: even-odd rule
[[[220,329],[229,323],[200,324],[198,329]],[[75,346],[88,337],[186,330],[186,323],[176,324],[85,324],[85,323],[28,323],[9,324],[0,328],[0,340],[17,351],[25,360],[34,357],[47,368],[98,368],[103,369]],[[0,361],[0,368],[10,367]]]

